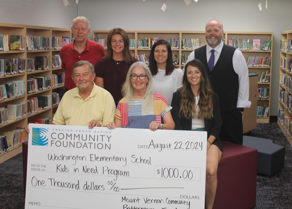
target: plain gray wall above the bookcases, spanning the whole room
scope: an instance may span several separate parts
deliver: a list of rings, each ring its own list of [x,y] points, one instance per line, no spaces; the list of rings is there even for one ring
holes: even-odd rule
[[[291,0],[269,0],[268,9],[264,0],[198,0],[189,6],[184,0],[79,0],[78,6],[68,1],[64,7],[62,0],[0,0],[0,22],[69,28],[78,15],[89,19],[92,30],[204,31],[209,20],[217,19],[225,31],[273,32],[270,114],[277,115],[280,33],[292,29],[288,21]],[[92,33],[88,38],[92,39]]]

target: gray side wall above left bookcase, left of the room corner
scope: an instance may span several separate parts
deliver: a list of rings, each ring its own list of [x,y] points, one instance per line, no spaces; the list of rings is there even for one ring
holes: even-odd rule
[[[75,0],[0,0],[0,22],[70,28],[77,16]]]

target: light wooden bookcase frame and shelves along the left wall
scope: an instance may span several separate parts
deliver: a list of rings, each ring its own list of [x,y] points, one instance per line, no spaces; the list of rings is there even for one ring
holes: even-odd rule
[[[26,36],[41,36],[41,37],[51,37],[52,36],[69,36],[71,39],[71,30],[66,28],[54,28],[54,27],[39,27],[39,26],[32,26],[32,25],[17,25],[17,24],[7,24],[7,23],[0,23],[0,34],[8,35],[8,40],[10,43],[10,35],[22,35],[25,37],[25,50],[23,51],[1,51],[0,52],[0,59],[5,58],[21,58],[21,59],[32,59],[36,56],[49,56],[52,58],[52,56],[60,54],[60,50],[33,50],[28,51],[26,48]],[[10,44],[9,44],[10,45]],[[53,112],[56,111],[56,107],[51,105],[49,108],[44,110],[39,110],[39,112],[36,112],[31,115],[27,115],[27,97],[39,97],[41,95],[52,95],[53,92],[56,91],[58,88],[63,88],[62,86],[49,88],[46,90],[40,90],[35,93],[27,93],[27,79],[33,78],[34,76],[38,75],[45,75],[45,76],[51,76],[55,72],[61,72],[62,68],[54,68],[52,65],[52,59],[49,63],[50,69],[48,70],[35,70],[33,72],[27,72],[27,61],[25,62],[25,73],[20,74],[13,74],[13,75],[6,75],[6,76],[0,76],[1,83],[13,81],[13,80],[22,80],[25,81],[25,95],[22,95],[20,97],[15,97],[11,99],[5,99],[0,102],[0,107],[7,108],[8,104],[16,104],[16,102],[25,102],[25,110],[26,110],[26,116],[22,117],[17,120],[8,120],[8,123],[0,126],[0,134],[4,131],[8,131],[11,129],[15,129],[17,127],[25,127],[28,123],[32,121],[34,118],[39,117],[52,117]],[[53,81],[51,81],[53,82]],[[51,83],[51,87],[52,87]],[[15,148],[10,148],[9,151],[4,152],[0,154],[0,163],[6,161],[7,159],[10,159],[11,157],[15,156],[16,154],[19,154],[22,152],[22,146],[19,145]]]

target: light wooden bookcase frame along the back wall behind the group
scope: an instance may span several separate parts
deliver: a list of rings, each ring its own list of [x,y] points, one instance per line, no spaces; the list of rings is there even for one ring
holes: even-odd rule
[[[109,31],[102,30],[102,31],[93,31],[93,40],[94,38],[100,38],[100,39],[106,39],[107,34]],[[159,39],[171,39],[175,38],[180,40],[178,49],[172,49],[173,54],[179,55],[179,64],[176,65],[176,67],[183,68],[184,65],[182,64],[182,55],[190,55],[190,53],[194,49],[184,49],[182,45],[182,39],[199,39],[200,40],[200,46],[206,45],[206,38],[205,38],[205,31],[126,31],[129,39],[135,39],[135,49],[132,49],[132,52],[135,54],[135,57],[137,58],[137,55],[143,55],[143,54],[150,54],[150,48],[147,49],[140,49],[137,47],[137,39],[152,39],[152,38],[159,38]],[[259,76],[258,78],[258,88],[270,88],[271,89],[271,78],[272,78],[272,47],[270,50],[252,50],[253,47],[253,39],[260,39],[261,46],[263,46],[263,43],[265,41],[273,41],[273,33],[272,32],[226,32],[224,33],[225,43],[228,43],[228,39],[249,39],[249,50],[243,51],[242,54],[244,55],[244,58],[246,61],[248,60],[249,56],[257,56],[257,57],[265,57],[270,56],[271,57],[271,63],[270,67],[248,67],[249,72],[256,72]],[[138,59],[138,58],[137,58]],[[267,83],[261,83],[260,77],[263,72],[268,72],[270,74],[270,82]],[[271,92],[271,90],[270,90]],[[266,106],[270,107],[270,93],[269,98],[267,99],[257,99],[257,106]],[[267,117],[257,117],[256,119],[257,123],[269,123],[270,122],[270,111],[267,115]]]

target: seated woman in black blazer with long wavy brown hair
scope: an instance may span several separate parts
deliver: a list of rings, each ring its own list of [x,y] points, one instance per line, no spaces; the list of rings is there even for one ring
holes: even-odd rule
[[[222,121],[218,96],[200,60],[188,62],[185,69],[183,89],[173,93],[171,116],[175,130],[207,131],[205,208],[213,208],[223,151],[219,140]]]

